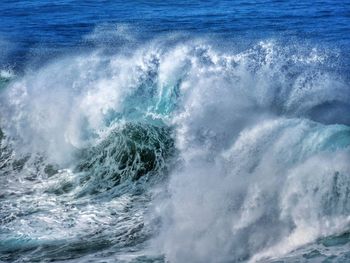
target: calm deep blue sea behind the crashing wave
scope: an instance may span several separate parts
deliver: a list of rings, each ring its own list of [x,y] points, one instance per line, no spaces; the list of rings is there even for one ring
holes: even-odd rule
[[[140,38],[187,32],[251,42],[280,38],[348,50],[350,1],[1,1],[1,59],[22,65],[94,43],[98,26],[126,24]],[[118,39],[99,40],[119,45]],[[4,47],[3,47],[4,46]],[[346,52],[347,53],[347,52]]]

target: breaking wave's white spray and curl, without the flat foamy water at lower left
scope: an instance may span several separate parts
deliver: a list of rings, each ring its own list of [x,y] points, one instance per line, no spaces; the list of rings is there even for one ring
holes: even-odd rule
[[[150,215],[162,222],[160,253],[170,262],[271,259],[349,230],[350,90],[334,59],[275,41],[235,52],[198,39],[66,57],[8,85],[1,127],[17,152],[61,168],[91,149],[76,174],[61,170],[69,198],[115,186],[115,148],[129,139],[111,136],[139,127],[151,137],[131,143],[140,152],[130,171],[148,165],[137,160],[150,145],[155,167],[166,148],[178,154]]]

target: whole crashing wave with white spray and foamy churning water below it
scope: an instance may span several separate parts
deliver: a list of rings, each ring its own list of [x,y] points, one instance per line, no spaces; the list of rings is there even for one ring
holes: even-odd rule
[[[349,256],[336,51],[171,36],[112,53],[1,77],[1,261]]]

